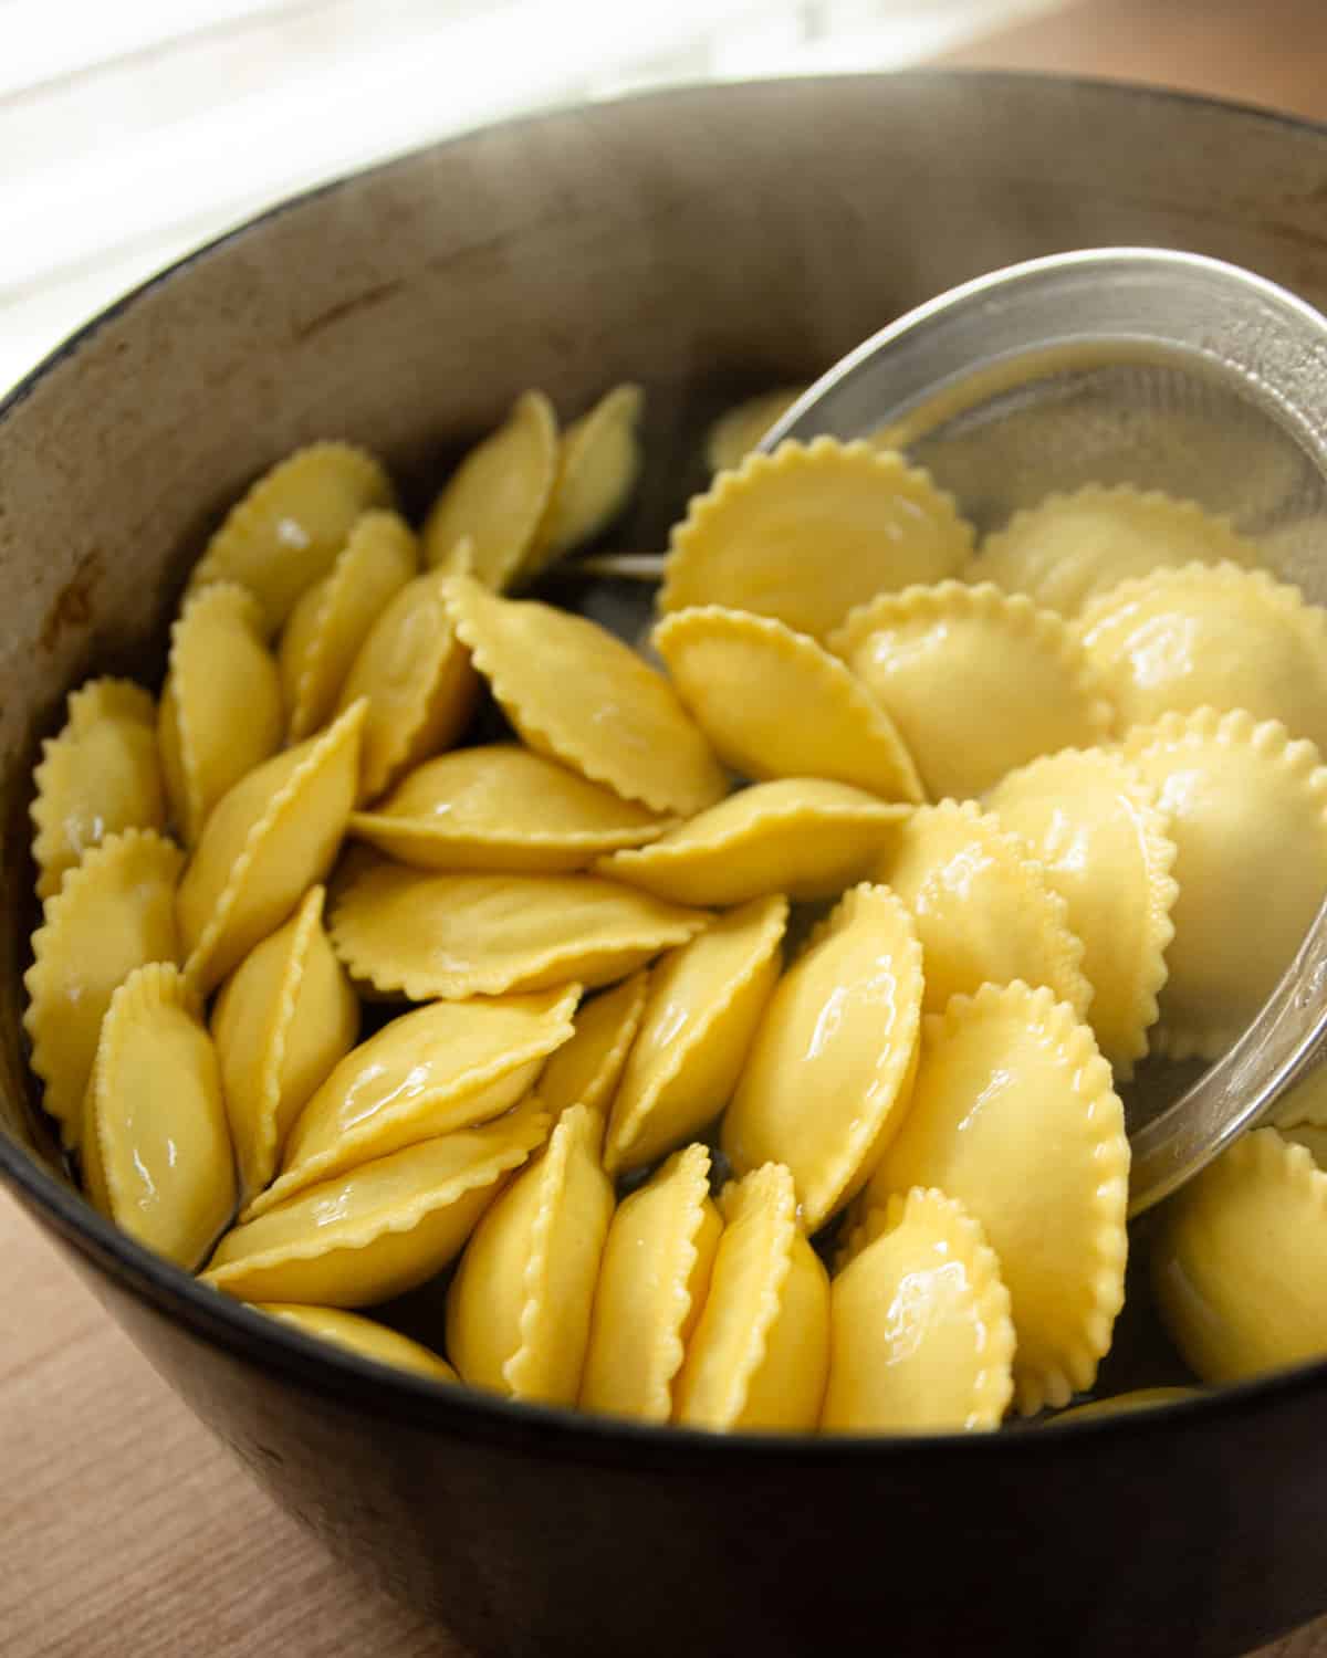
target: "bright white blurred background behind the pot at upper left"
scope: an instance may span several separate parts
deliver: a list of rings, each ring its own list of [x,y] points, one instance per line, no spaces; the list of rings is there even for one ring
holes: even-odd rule
[[[0,0],[0,391],[257,209],[518,109],[899,68],[1062,0]]]

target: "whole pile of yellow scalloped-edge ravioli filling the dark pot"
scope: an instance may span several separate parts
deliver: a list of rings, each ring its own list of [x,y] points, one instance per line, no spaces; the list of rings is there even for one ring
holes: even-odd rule
[[[113,1222],[382,1363],[650,1423],[1093,1389],[1116,1088],[1222,1053],[1327,892],[1327,613],[1191,502],[977,547],[881,444],[745,454],[780,396],[710,434],[642,653],[511,597],[622,511],[640,393],[526,393],[418,536],[363,451],[274,468],[159,698],[70,696],[27,1026]],[[1158,1232],[1201,1381],[1327,1351],[1327,1089],[1279,1121]]]

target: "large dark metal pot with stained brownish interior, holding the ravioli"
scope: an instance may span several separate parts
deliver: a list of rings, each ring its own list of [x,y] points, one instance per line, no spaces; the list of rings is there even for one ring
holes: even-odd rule
[[[0,1176],[274,1496],[478,1653],[1242,1651],[1327,1607],[1327,1366],[1063,1431],[833,1442],[639,1431],[315,1348],[58,1172],[20,1030],[36,738],[78,676],[159,670],[209,526],[299,443],[368,443],[423,489],[521,388],[574,410],[639,380],[649,544],[722,401],[1091,244],[1214,254],[1327,305],[1327,131],[985,75],[541,116],[259,219],[0,406]]]

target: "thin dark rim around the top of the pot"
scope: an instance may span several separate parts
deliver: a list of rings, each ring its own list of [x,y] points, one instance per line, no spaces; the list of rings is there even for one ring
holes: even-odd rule
[[[622,104],[645,101],[685,103],[697,96],[743,98],[765,93],[773,85],[788,83],[801,88],[821,88],[829,93],[844,81],[856,85],[967,81],[977,88],[1047,81],[1058,88],[1082,86],[1095,93],[1106,91],[1108,96],[1118,98],[1121,104],[1169,101],[1206,106],[1327,138],[1327,123],[1310,121],[1305,116],[1289,114],[1256,103],[1105,76],[1057,75],[1032,70],[916,68],[853,75],[795,75],[780,76],[778,81],[687,81],[630,93],[624,98],[604,99],[589,108],[595,113],[602,111],[602,118],[610,118],[612,111]],[[128,312],[158,285],[174,280],[197,260],[209,257],[241,237],[260,230],[270,221],[297,207],[304,207],[307,202],[347,189],[348,186],[358,186],[365,179],[388,172],[393,167],[408,166],[420,156],[463,144],[479,131],[489,131],[494,126],[504,129],[539,126],[569,114],[584,118],[586,108],[584,103],[564,103],[511,116],[499,123],[483,123],[481,126],[466,128],[445,139],[415,146],[385,161],[352,169],[323,184],[287,196],[232,229],[202,242],[96,312],[88,322],[81,323],[53,347],[17,385],[0,395],[0,441],[3,441],[5,423],[15,410],[32,396],[56,366],[66,358],[75,356],[106,323]],[[1028,1459],[1035,1462],[1045,1456],[1058,1459],[1065,1454],[1068,1444],[1080,1441],[1083,1444],[1101,1441],[1105,1454],[1110,1456],[1115,1436],[1121,1433],[1131,1436],[1151,1433],[1171,1434],[1176,1419],[1183,1419],[1186,1424],[1193,1423],[1203,1429],[1204,1424],[1218,1419],[1274,1409],[1279,1401],[1289,1403],[1320,1394],[1325,1391],[1324,1384],[1327,1384],[1327,1358],[1324,1358],[1251,1381],[1209,1389],[1193,1399],[1179,1399],[1153,1406],[1146,1411],[1121,1411],[1118,1414],[1103,1414],[1086,1421],[1068,1423],[1063,1429],[1053,1433],[1047,1433],[1048,1428],[1057,1428],[1053,1421],[1030,1431],[1022,1429],[1015,1433],[916,1436],[718,1434],[672,1424],[637,1423],[629,1418],[597,1416],[569,1408],[506,1399],[464,1384],[456,1386],[453,1383],[433,1381],[304,1335],[290,1325],[259,1313],[247,1303],[211,1288],[182,1267],[176,1267],[173,1262],[138,1244],[98,1214],[70,1185],[48,1174],[3,1129],[0,1129],[0,1180],[15,1192],[22,1205],[38,1222],[71,1244],[100,1272],[128,1287],[158,1311],[174,1316],[196,1338],[219,1346],[260,1370],[279,1373],[287,1384],[330,1396],[338,1403],[362,1411],[368,1419],[385,1418],[415,1429],[428,1429],[441,1434],[459,1433],[466,1437],[479,1437],[513,1451],[529,1449],[541,1454],[566,1454],[587,1462],[622,1462],[625,1457],[640,1467],[657,1464],[683,1472],[692,1462],[702,1461],[717,1474],[735,1464],[741,1467],[761,1464],[778,1469],[796,1464],[853,1466],[858,1469],[869,1466],[871,1471],[876,1471],[881,1464],[891,1469],[904,1469],[921,1462],[924,1471],[927,1464],[934,1464],[945,1456],[965,1456],[972,1459],[1015,1456],[1025,1462]],[[1100,1451],[1101,1446],[1098,1446],[1098,1454]],[[989,1466],[989,1462],[982,1466]]]

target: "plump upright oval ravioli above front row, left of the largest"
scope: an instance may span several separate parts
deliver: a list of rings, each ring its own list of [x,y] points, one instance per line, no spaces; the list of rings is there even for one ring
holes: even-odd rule
[[[871,885],[843,899],[766,1003],[723,1116],[723,1151],[738,1172],[786,1164],[808,1232],[861,1189],[897,1127],[921,1005],[912,919]]]

